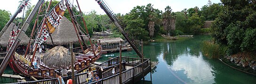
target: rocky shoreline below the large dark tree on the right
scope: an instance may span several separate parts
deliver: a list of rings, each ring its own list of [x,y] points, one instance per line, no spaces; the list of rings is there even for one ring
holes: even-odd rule
[[[256,74],[256,60],[251,53],[240,52],[232,56],[225,56],[222,60],[240,70]]]

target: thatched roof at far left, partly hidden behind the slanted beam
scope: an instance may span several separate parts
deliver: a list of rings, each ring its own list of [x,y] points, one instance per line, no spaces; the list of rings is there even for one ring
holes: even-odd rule
[[[17,28],[17,26],[15,25],[14,26],[14,30],[16,30],[16,28]],[[2,46],[2,47],[7,47],[8,46],[8,40],[9,40],[9,36],[10,36],[10,31],[11,31],[11,29],[12,29],[12,26],[10,25],[7,29],[6,29],[6,31],[4,32],[4,34],[0,37],[0,45]],[[24,34],[24,32],[21,32],[21,33],[23,33]],[[26,34],[24,34],[24,36],[22,37],[22,40],[21,40],[21,42],[19,43],[19,45],[27,45],[28,44],[28,42],[29,42],[29,37],[26,35]]]

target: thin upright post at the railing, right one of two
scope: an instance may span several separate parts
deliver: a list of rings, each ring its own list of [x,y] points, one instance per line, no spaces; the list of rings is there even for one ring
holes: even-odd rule
[[[119,42],[119,84],[122,84],[122,41]]]

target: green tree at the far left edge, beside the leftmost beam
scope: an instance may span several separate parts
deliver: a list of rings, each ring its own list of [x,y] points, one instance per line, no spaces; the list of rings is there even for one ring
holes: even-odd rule
[[[4,28],[6,23],[10,20],[11,13],[0,9],[0,31]]]

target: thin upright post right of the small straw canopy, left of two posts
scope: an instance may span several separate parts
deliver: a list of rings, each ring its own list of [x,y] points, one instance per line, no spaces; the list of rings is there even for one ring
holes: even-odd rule
[[[70,53],[71,53],[72,84],[75,84],[73,43],[69,42],[69,46],[70,46]]]

